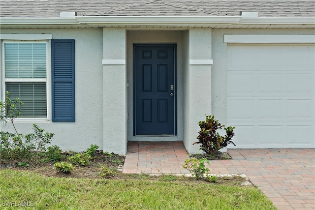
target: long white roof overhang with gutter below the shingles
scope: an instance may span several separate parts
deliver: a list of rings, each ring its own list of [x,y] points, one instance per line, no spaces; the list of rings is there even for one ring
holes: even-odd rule
[[[1,28],[315,28],[315,17],[243,16],[74,16],[71,18],[0,18]]]

